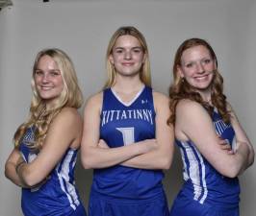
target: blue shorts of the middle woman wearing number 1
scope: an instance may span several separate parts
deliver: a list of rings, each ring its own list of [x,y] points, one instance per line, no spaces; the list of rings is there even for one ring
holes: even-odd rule
[[[108,196],[90,195],[90,216],[168,216],[164,194],[153,199],[127,201]]]

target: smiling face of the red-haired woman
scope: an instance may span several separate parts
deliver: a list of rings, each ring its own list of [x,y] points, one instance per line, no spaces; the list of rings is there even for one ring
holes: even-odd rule
[[[209,91],[215,69],[216,62],[209,50],[205,46],[198,45],[183,52],[178,73],[198,91]]]

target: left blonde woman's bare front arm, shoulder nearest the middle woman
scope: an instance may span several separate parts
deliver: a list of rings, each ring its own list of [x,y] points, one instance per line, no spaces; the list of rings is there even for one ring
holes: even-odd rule
[[[38,156],[17,170],[20,180],[32,187],[45,180],[68,147],[78,148],[82,119],[74,108],[64,108],[52,121]]]

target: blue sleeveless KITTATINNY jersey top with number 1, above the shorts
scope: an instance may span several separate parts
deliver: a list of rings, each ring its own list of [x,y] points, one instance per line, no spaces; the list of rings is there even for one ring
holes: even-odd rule
[[[152,89],[144,86],[129,105],[122,103],[111,88],[105,89],[100,138],[104,139],[110,148],[155,138]],[[163,178],[161,170],[136,169],[122,165],[95,169],[91,194],[130,201],[151,199],[163,194]]]

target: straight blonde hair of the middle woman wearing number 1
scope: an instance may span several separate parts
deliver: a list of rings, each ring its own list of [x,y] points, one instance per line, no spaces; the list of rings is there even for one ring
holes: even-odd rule
[[[107,48],[106,68],[108,73],[108,80],[104,85],[104,88],[111,87],[115,84],[115,76],[116,76],[115,65],[113,65],[113,63],[110,61],[110,56],[113,53],[115,41],[119,36],[135,36],[140,41],[143,53],[145,55],[145,60],[143,62],[141,73],[140,73],[141,82],[147,86],[151,86],[150,62],[149,62],[148,48],[146,45],[145,38],[141,34],[141,32],[135,27],[123,26],[115,31],[114,35],[110,39],[110,42]]]

